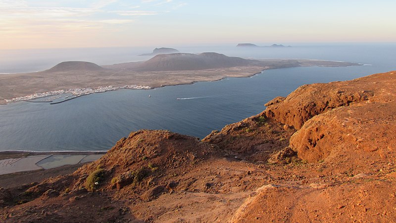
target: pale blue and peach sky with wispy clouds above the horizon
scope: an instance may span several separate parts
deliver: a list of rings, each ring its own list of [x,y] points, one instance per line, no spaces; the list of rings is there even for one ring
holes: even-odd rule
[[[0,50],[396,42],[396,0],[0,0]]]

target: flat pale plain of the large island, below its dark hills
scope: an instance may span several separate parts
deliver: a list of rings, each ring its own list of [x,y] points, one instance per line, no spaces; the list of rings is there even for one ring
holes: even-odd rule
[[[0,105],[65,93],[73,96],[83,96],[119,89],[154,89],[164,86],[193,84],[201,81],[219,81],[228,77],[251,77],[268,69],[299,66],[340,67],[362,65],[359,63],[308,59],[267,59],[265,62],[267,65],[248,65],[203,70],[120,70],[117,72],[114,72],[116,70],[67,70],[1,75],[0,83],[6,87],[3,89],[0,88]]]

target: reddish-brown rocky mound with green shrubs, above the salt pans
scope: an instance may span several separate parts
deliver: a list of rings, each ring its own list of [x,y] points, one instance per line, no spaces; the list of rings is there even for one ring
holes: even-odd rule
[[[165,130],[140,130],[122,138],[102,159],[80,168],[75,174],[87,176],[96,169],[107,171],[98,188],[122,189],[147,181],[149,176],[165,169],[189,167],[209,154],[216,156],[212,146],[198,138]],[[79,188],[83,181],[74,185]]]

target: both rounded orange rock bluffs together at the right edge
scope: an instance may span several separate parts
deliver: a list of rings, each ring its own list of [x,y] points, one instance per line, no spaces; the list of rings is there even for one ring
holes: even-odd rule
[[[394,72],[304,85],[286,98],[268,102],[264,113],[299,129],[291,137],[290,147],[308,162],[341,153],[348,153],[351,160],[361,151],[387,153],[395,145],[391,136],[396,131],[392,121],[396,114],[395,86]]]

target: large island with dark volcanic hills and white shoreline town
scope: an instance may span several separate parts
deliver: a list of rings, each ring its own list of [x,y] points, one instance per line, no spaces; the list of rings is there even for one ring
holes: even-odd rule
[[[266,69],[299,66],[351,66],[350,62],[309,59],[244,59],[213,52],[160,54],[146,61],[99,66],[65,61],[52,68],[0,75],[0,104],[52,95],[71,97],[118,89],[150,89],[166,85],[249,77]]]

